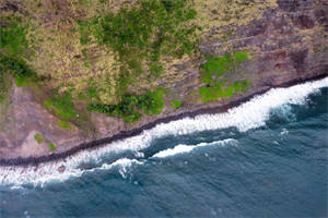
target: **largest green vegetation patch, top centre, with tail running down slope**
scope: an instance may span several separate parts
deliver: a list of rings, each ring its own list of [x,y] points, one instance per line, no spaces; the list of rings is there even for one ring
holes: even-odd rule
[[[114,51],[119,69],[116,95],[122,96],[129,83],[142,73],[159,76],[161,58],[181,58],[197,48],[196,16],[190,0],[143,0],[122,4],[117,12],[79,20],[80,41],[95,38]]]

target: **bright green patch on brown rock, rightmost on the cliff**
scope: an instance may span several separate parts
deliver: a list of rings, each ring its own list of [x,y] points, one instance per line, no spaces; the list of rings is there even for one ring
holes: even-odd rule
[[[221,97],[232,97],[234,93],[246,92],[250,85],[247,80],[224,83],[219,78],[220,76],[230,77],[238,71],[241,62],[247,58],[248,53],[246,50],[232,51],[220,57],[208,57],[207,62],[201,66],[201,78],[202,82],[207,83],[207,85],[199,87],[201,100],[207,102]]]

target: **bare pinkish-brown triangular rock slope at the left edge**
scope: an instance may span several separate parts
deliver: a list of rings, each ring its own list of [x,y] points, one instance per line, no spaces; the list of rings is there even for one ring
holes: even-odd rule
[[[47,143],[58,152],[71,148],[84,140],[79,129],[65,130],[58,119],[37,102],[25,87],[13,85],[11,104],[1,114],[0,158],[43,156],[50,154]],[[38,143],[35,135],[40,134]],[[1,137],[2,136],[2,137]]]

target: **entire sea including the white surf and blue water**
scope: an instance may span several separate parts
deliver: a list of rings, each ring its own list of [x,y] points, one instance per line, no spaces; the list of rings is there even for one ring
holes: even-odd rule
[[[327,217],[327,107],[324,78],[38,168],[0,167],[0,217]]]

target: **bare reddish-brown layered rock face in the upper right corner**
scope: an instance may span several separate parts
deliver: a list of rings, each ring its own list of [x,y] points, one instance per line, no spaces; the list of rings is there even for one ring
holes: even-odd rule
[[[323,9],[328,11],[324,1],[278,0],[278,8],[236,29],[227,41],[206,43],[201,49],[215,55],[224,53],[226,47],[253,51],[251,68],[246,71],[257,86],[325,74],[328,23]]]

